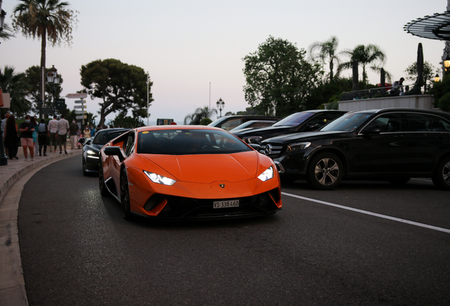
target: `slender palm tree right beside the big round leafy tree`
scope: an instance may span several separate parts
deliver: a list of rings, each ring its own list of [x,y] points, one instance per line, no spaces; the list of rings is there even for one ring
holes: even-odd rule
[[[337,45],[339,40],[336,36],[331,36],[329,40],[324,42],[313,42],[309,47],[309,55],[311,60],[321,60],[325,64],[328,60],[330,62],[330,82],[333,82],[333,68],[334,64],[340,65],[339,56],[342,52],[337,52]],[[315,53],[317,52],[317,53]]]

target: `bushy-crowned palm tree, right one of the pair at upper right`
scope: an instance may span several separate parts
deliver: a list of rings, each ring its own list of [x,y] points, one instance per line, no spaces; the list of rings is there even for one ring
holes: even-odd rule
[[[353,50],[346,50],[344,53],[350,57],[350,61],[340,64],[337,70],[351,69],[353,62],[357,60],[359,66],[362,67],[362,82],[364,84],[367,80],[367,65],[374,64],[370,68],[374,72],[379,72],[381,69],[379,64],[383,65],[386,62],[386,55],[377,45],[357,45]]]

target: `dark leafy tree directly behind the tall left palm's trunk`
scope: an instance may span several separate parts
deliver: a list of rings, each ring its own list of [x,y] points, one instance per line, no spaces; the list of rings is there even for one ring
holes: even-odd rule
[[[39,106],[41,101],[40,96],[40,74],[41,70],[37,66],[31,66],[28,69],[25,70],[25,74],[28,79],[28,84],[30,84],[30,91],[29,91],[29,97],[31,101],[33,101],[33,112],[38,113],[39,112]],[[50,69],[45,69],[45,74],[49,72]],[[47,108],[53,108],[53,97],[55,96],[58,98],[61,95],[62,92],[62,83],[64,82],[64,79],[62,79],[61,75],[59,75],[59,84],[54,84],[54,92],[53,92],[53,84],[45,82],[45,101],[43,107]],[[61,111],[55,110],[57,114],[62,115]],[[66,118],[67,119],[67,118]]]

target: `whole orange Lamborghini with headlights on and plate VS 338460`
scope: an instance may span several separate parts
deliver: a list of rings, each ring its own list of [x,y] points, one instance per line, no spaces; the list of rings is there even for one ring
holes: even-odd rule
[[[277,168],[233,134],[207,126],[129,130],[100,150],[100,193],[131,215],[233,218],[282,209]]]

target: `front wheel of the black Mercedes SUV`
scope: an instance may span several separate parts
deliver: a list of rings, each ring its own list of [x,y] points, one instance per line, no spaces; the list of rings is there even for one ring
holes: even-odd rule
[[[306,181],[318,190],[333,190],[342,181],[343,169],[340,158],[335,154],[319,153],[308,165]]]

